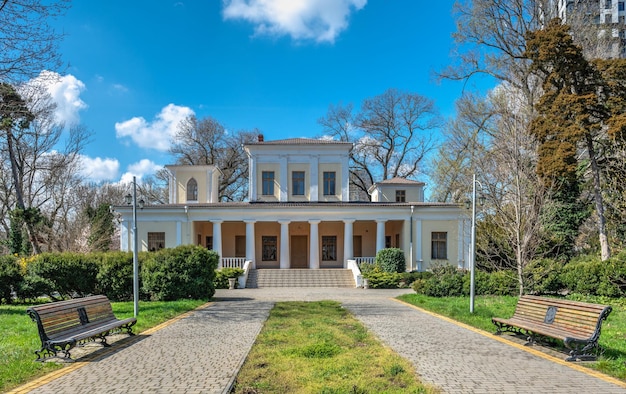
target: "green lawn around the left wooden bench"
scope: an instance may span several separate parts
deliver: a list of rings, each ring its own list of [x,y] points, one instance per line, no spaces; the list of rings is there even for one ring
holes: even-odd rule
[[[139,333],[192,310],[206,301],[140,302],[133,332]],[[113,312],[122,319],[133,316],[132,302],[114,302]],[[0,392],[63,368],[63,364],[35,362],[41,347],[37,324],[26,314],[29,305],[0,305]]]

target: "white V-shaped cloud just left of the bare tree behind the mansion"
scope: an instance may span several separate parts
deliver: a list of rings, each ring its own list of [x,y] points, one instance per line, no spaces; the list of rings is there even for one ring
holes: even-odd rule
[[[168,104],[152,122],[146,121],[141,116],[121,123],[116,122],[115,133],[117,138],[129,137],[142,148],[167,151],[180,121],[193,114],[189,107]]]

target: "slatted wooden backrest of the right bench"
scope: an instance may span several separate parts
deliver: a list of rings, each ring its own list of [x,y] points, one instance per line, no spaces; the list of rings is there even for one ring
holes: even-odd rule
[[[514,317],[554,325],[590,337],[610,312],[611,307],[608,305],[525,295],[520,297]]]

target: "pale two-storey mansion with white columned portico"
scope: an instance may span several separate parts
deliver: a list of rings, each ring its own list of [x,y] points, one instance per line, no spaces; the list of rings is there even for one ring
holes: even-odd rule
[[[286,139],[243,146],[248,202],[219,202],[220,170],[166,166],[165,205],[138,210],[139,250],[183,244],[215,250],[222,266],[346,268],[387,247],[404,250],[407,270],[447,263],[467,268],[469,221],[458,204],[424,202],[424,183],[394,178],[373,185],[370,201],[350,201],[351,143]],[[132,250],[133,214],[121,215],[121,249]]]

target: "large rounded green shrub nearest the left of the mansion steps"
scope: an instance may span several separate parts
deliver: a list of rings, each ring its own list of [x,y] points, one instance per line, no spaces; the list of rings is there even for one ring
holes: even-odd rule
[[[153,300],[209,299],[218,260],[216,252],[195,245],[150,253],[141,267],[143,288]]]

